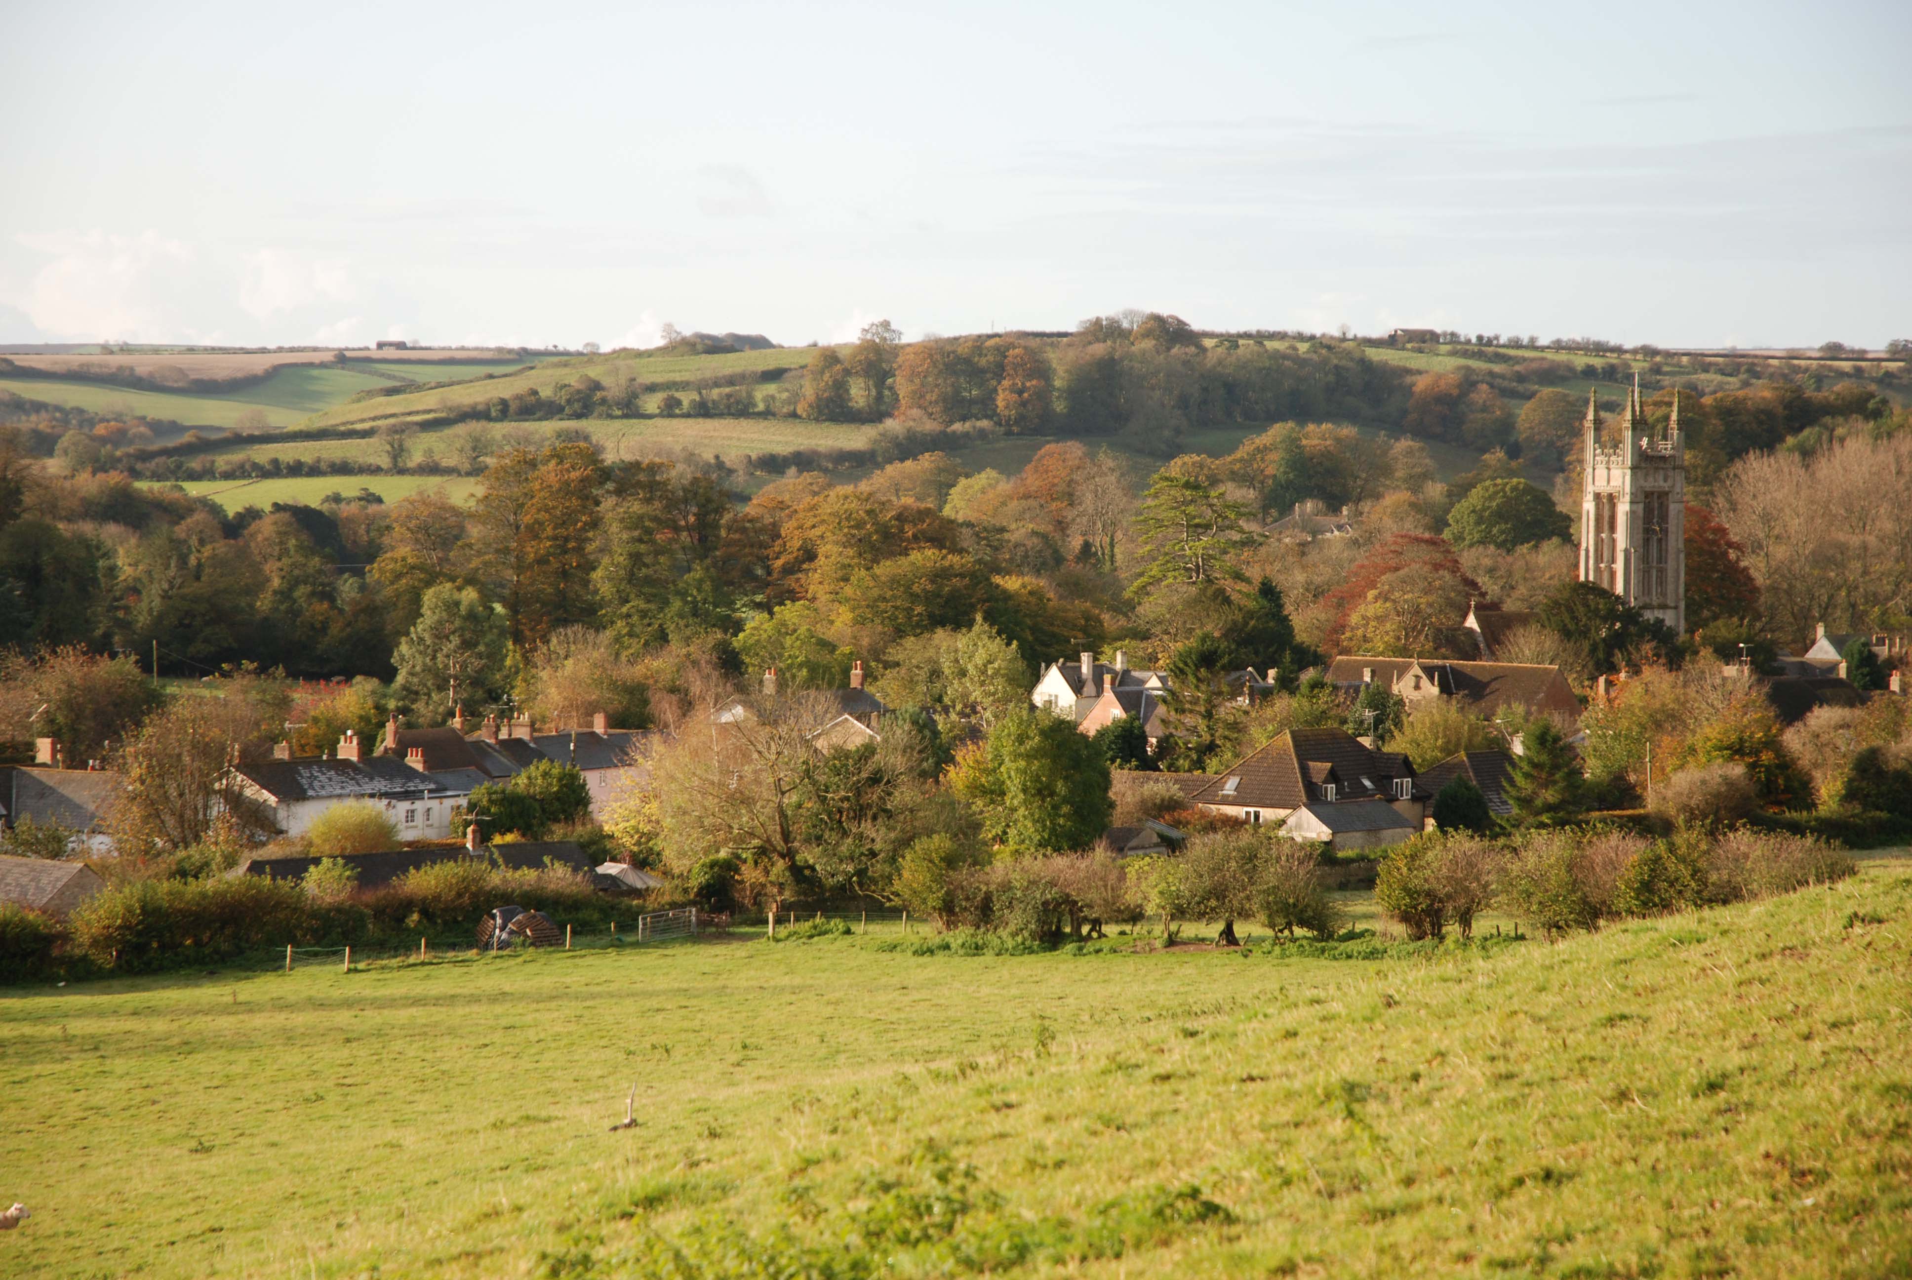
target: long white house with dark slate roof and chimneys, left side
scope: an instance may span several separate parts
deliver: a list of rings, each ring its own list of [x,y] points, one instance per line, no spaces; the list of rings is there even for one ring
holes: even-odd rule
[[[445,840],[455,830],[453,811],[470,794],[468,786],[447,786],[396,756],[365,754],[350,729],[337,756],[293,758],[291,748],[279,744],[272,760],[241,761],[231,771],[239,790],[289,836],[306,834],[337,804],[367,800],[386,811],[402,840]]]

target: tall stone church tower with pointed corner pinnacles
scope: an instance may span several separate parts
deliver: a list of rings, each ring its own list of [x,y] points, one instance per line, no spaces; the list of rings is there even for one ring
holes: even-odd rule
[[[1679,398],[1656,436],[1633,379],[1619,448],[1600,446],[1600,411],[1587,396],[1587,478],[1579,503],[1579,580],[1686,633],[1686,442]]]

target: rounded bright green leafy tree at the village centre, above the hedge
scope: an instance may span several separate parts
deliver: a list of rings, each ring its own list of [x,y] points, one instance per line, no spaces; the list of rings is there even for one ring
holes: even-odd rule
[[[1086,850],[1109,828],[1109,761],[1061,716],[1025,712],[950,765],[950,790],[983,830],[1019,850]]]

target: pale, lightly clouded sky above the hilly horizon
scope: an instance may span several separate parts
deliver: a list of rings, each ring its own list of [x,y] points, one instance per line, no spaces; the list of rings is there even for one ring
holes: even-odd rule
[[[1902,0],[0,11],[0,342],[1912,337]]]

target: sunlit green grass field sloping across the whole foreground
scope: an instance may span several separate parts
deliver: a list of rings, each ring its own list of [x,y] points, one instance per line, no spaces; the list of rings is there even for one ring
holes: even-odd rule
[[[1908,924],[1893,859],[1440,957],[736,934],[17,989],[0,1274],[1902,1276]]]

